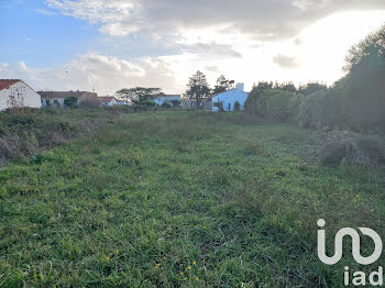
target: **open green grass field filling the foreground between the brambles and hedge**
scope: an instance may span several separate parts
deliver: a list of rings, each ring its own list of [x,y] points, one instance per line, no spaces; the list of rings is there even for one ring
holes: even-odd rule
[[[0,287],[341,287],[317,220],[385,235],[384,170],[319,165],[295,125],[110,122],[0,170]]]

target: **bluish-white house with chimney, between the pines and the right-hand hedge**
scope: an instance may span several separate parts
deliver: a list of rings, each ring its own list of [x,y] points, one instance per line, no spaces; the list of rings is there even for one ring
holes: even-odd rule
[[[219,111],[216,103],[221,103],[224,111],[234,111],[235,102],[240,103],[240,110],[244,109],[244,103],[249,93],[244,91],[244,84],[237,84],[235,89],[231,89],[212,96],[212,111]]]

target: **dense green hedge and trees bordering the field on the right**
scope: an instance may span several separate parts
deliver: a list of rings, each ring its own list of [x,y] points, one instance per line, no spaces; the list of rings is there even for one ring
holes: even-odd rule
[[[385,26],[354,45],[344,76],[332,86],[258,82],[245,103],[248,113],[274,122],[298,122],[317,130],[385,132]]]

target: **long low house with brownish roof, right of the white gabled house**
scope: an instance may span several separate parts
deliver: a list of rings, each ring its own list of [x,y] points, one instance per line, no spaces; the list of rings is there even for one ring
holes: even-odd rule
[[[69,97],[78,99],[77,104],[84,107],[99,106],[98,95],[87,91],[40,91],[43,107],[64,108],[64,100]]]

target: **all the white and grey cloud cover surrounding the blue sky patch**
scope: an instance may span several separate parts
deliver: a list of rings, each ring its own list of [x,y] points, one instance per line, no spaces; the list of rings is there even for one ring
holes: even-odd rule
[[[0,64],[0,78],[25,78],[35,89],[91,90],[103,95],[133,86],[183,92],[196,70],[213,84],[220,74],[235,81],[321,80],[342,76],[349,47],[384,22],[384,0],[46,0],[50,11],[96,24],[113,42],[141,53],[162,46],[164,56],[136,59],[89,52],[58,67]],[[346,12],[355,11],[360,12]],[[343,12],[342,12],[343,11]],[[127,42],[124,42],[127,41]],[[130,42],[131,41],[131,42]],[[122,44],[123,43],[123,44]],[[129,44],[127,44],[129,43]],[[138,45],[138,46],[135,46]],[[140,48],[138,48],[140,47]],[[147,48],[147,47],[146,47]],[[168,52],[169,51],[172,52]],[[170,54],[170,55],[168,55]],[[274,64],[275,63],[275,64]],[[299,65],[300,64],[300,65]],[[289,69],[288,69],[289,68]]]

